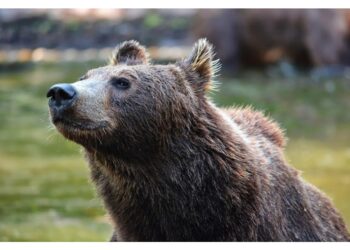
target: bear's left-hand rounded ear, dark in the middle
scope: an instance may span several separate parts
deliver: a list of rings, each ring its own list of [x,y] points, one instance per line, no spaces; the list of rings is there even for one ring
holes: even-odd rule
[[[137,41],[126,41],[116,47],[110,59],[111,65],[117,64],[147,64],[148,54],[145,47],[141,46]]]

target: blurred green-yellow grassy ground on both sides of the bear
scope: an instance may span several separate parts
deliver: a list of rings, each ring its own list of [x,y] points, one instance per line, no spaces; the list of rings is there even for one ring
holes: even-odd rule
[[[50,129],[45,93],[91,64],[0,71],[0,240],[105,241],[111,228],[78,146]],[[266,110],[290,137],[287,158],[350,224],[350,86],[346,79],[222,79],[220,106]]]

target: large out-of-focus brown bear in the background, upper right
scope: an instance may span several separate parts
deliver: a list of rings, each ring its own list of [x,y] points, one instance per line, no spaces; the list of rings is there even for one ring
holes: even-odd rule
[[[307,67],[341,65],[349,64],[346,14],[339,9],[201,10],[192,33],[208,37],[231,69],[280,60]]]

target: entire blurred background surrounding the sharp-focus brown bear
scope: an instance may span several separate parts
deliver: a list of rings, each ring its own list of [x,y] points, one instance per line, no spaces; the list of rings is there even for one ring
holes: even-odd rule
[[[0,240],[106,241],[111,227],[80,148],[50,126],[46,91],[136,39],[154,62],[199,37],[222,62],[219,106],[281,124],[286,158],[350,225],[350,11],[0,9]]]

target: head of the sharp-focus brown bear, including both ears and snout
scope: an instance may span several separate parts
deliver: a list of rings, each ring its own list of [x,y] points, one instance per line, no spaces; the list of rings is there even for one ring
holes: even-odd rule
[[[52,123],[87,149],[151,153],[201,119],[218,69],[213,56],[201,39],[186,59],[153,65],[138,42],[124,42],[110,65],[49,89]]]

